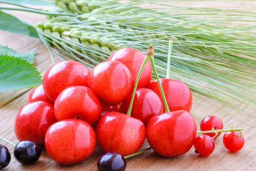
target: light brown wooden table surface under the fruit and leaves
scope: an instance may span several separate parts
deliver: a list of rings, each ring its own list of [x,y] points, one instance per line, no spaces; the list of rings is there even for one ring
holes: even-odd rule
[[[237,4],[236,4],[237,5]],[[11,12],[16,16],[30,22],[37,23],[38,21],[44,21],[45,17],[39,14],[31,14],[25,12]],[[35,66],[42,75],[52,65],[49,57],[49,53],[45,46],[39,39],[29,38],[22,35],[15,35],[9,32],[0,31],[0,45],[9,46],[17,50],[18,52],[28,52],[34,48],[36,50]],[[55,62],[59,61],[55,58]],[[0,136],[8,139],[13,143],[17,143],[17,139],[14,134],[14,119],[18,110],[26,104],[27,97],[30,90],[19,90],[7,93],[0,93]],[[195,95],[196,93],[194,93]],[[198,95],[198,94],[197,94]],[[127,159],[127,171],[255,171],[256,170],[256,129],[252,126],[240,122],[234,116],[240,118],[241,114],[235,110],[227,108],[223,104],[220,104],[205,96],[199,95],[201,98],[193,96],[192,113],[196,113],[195,122],[199,126],[201,119],[205,116],[215,115],[221,117],[224,122],[224,128],[244,128],[244,148],[236,153],[228,151],[224,148],[222,143],[222,136],[215,140],[215,151],[209,157],[201,157],[195,154],[194,149],[179,157],[165,158],[157,155],[154,151],[150,150],[144,154],[140,154],[136,157]],[[213,105],[209,105],[207,99]],[[245,107],[244,110],[252,111],[250,107]],[[233,116],[231,116],[231,113]],[[199,116],[199,117],[198,117]],[[247,120],[251,122],[250,118]],[[254,127],[256,123],[252,124]],[[199,128],[199,127],[198,127]],[[45,149],[43,149],[42,156],[34,165],[23,166],[18,163],[13,157],[12,146],[1,141],[0,144],[6,145],[9,148],[12,160],[10,165],[5,169],[6,171],[96,171],[96,163],[102,151],[98,146],[93,155],[77,165],[63,166],[54,162],[49,158]],[[148,148],[149,145],[145,141],[143,148]],[[61,153],[61,152],[60,152]],[[65,155],[65,154],[63,154]]]

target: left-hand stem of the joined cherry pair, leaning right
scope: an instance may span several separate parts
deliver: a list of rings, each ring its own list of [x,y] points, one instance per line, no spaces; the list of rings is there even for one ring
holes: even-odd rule
[[[151,45],[152,46],[152,45]],[[148,47],[148,49],[150,49],[150,46]],[[135,84],[134,84],[134,89],[132,91],[132,96],[131,96],[131,102],[130,102],[130,105],[129,105],[129,108],[128,108],[128,111],[126,113],[126,115],[128,116],[131,116],[131,109],[132,109],[132,105],[133,105],[133,102],[134,102],[134,97],[135,97],[135,93],[136,93],[136,90],[137,90],[137,86],[138,86],[138,83],[139,83],[139,80],[140,80],[140,75],[142,74],[143,72],[143,68],[145,67],[145,65],[147,64],[147,61],[149,59],[149,56],[148,56],[148,50],[147,50],[147,54],[145,56],[145,59],[143,61],[143,64],[141,65],[140,67],[140,71],[137,75],[137,78],[136,78],[136,81],[135,81]]]

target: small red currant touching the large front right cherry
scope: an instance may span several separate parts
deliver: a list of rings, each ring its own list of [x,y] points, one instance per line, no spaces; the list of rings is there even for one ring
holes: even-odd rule
[[[215,142],[208,135],[200,135],[195,139],[194,147],[195,153],[199,153],[202,156],[209,156],[214,151]]]

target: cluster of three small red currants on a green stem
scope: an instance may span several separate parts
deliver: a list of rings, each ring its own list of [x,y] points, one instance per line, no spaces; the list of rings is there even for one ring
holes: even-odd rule
[[[223,136],[223,144],[229,151],[239,151],[244,146],[244,137],[240,130],[234,131],[233,128],[230,130],[223,130],[223,122],[217,116],[205,117],[201,121],[200,129],[205,132],[208,130],[215,131],[215,133],[204,133],[195,139],[195,152],[202,156],[209,156],[212,154],[215,148],[214,139],[220,136],[221,132],[228,131]]]

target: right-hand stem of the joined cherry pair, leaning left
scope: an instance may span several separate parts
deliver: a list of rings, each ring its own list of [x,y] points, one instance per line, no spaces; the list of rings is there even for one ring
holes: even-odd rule
[[[152,45],[150,45],[150,46],[152,46]],[[168,113],[168,112],[170,112],[170,110],[169,110],[169,107],[168,107],[168,104],[167,104],[167,101],[166,101],[166,97],[165,97],[165,95],[163,93],[163,87],[162,87],[162,84],[160,82],[159,76],[157,74],[157,69],[156,69],[156,67],[154,65],[154,47],[153,46],[152,46],[152,49],[151,49],[151,53],[148,54],[148,55],[149,55],[151,66],[152,66],[152,68],[154,70],[154,74],[155,74],[155,76],[157,78],[157,83],[158,83],[158,86],[160,88],[160,92],[161,92],[161,95],[162,95],[162,98],[163,98],[163,104],[164,104],[165,112]]]

